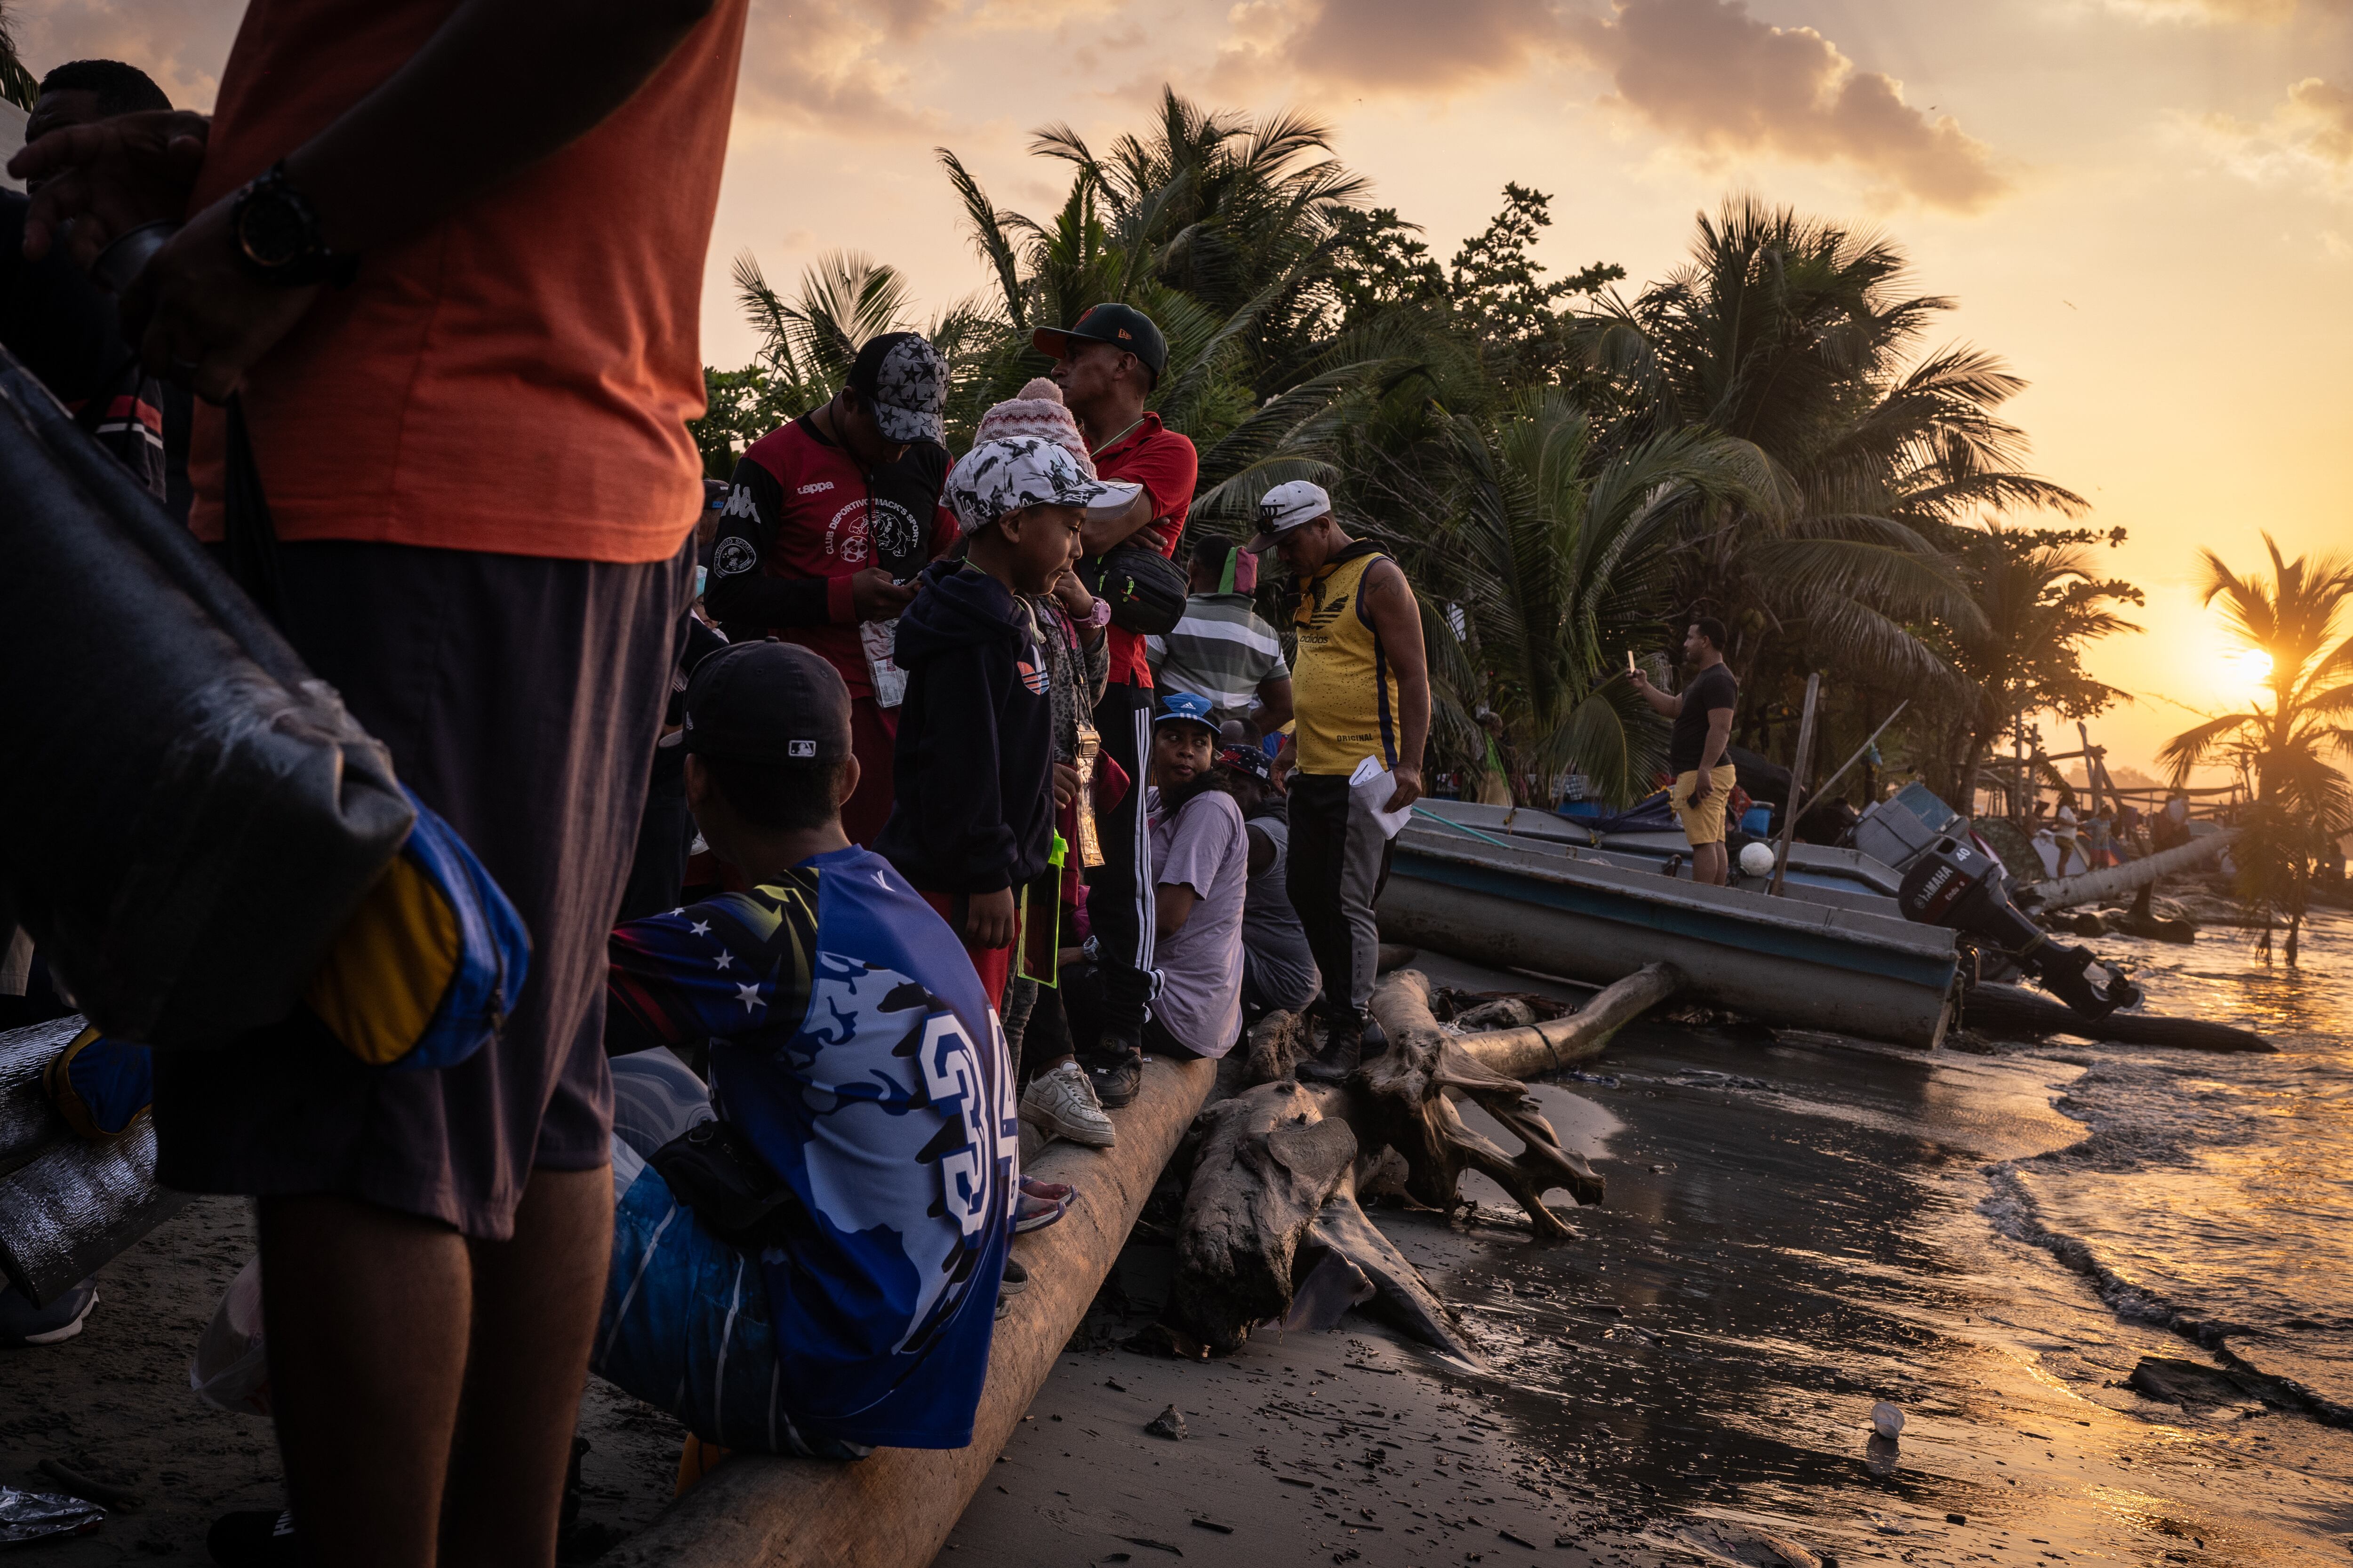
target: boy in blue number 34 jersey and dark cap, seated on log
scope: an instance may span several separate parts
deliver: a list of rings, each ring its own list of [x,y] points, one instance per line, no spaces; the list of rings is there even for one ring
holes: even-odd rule
[[[962,1448],[988,1371],[1019,1124],[953,931],[842,835],[849,693],[807,649],[696,668],[687,802],[753,882],[612,933],[612,1279],[595,1371],[727,1448]],[[680,1058],[708,1053],[708,1100]],[[645,1164],[718,1117],[788,1190],[729,1246]]]

